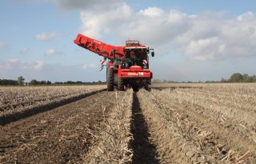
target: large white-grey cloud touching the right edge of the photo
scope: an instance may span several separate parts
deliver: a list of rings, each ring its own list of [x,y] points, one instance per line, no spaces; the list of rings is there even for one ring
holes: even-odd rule
[[[250,15],[250,19],[246,18]],[[225,58],[256,57],[256,18],[242,14],[237,18],[225,15],[198,15],[192,26],[178,37],[190,58],[222,60]]]

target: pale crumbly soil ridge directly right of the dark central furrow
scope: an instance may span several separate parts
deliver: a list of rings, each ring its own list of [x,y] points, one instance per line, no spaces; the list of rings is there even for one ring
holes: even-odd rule
[[[150,140],[157,146],[160,162],[207,162],[204,160],[204,155],[200,154],[198,146],[191,144],[190,138],[186,135],[185,126],[180,122],[180,115],[173,110],[162,109],[149,96],[145,98],[144,94],[144,91],[138,93],[138,98],[150,127]]]

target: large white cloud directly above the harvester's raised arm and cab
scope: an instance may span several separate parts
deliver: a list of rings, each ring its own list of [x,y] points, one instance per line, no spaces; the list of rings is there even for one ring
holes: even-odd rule
[[[127,38],[162,46],[190,26],[190,16],[178,10],[165,11],[157,7],[148,7],[134,13],[126,3],[113,10],[81,12],[82,34],[92,38],[101,38],[102,34],[112,32],[118,40],[125,42]]]

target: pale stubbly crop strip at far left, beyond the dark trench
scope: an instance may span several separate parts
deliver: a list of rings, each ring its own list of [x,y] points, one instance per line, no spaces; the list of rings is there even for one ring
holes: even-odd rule
[[[60,102],[81,94],[102,90],[106,86],[27,86],[0,88],[0,115]]]

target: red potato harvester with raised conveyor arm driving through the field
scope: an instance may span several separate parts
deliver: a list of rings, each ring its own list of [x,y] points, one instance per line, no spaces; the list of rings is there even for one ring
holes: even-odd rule
[[[142,87],[150,91],[150,82],[153,74],[149,69],[149,53],[154,57],[154,49],[141,45],[139,41],[126,41],[126,46],[111,46],[93,38],[78,34],[74,43],[104,57],[101,61],[106,64],[107,90],[126,90],[132,87],[138,91]]]

